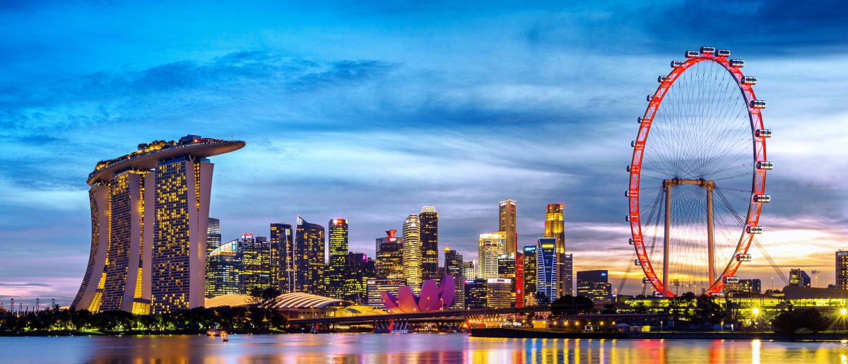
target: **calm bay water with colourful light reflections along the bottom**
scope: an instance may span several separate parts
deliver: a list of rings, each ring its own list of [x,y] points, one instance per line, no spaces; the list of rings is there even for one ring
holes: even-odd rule
[[[732,340],[488,339],[465,334],[0,338],[2,362],[846,363],[848,344]]]

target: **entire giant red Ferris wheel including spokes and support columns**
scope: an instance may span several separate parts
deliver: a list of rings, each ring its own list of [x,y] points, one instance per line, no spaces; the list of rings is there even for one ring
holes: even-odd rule
[[[635,264],[661,296],[677,294],[669,281],[707,295],[739,282],[734,274],[762,232],[772,132],[762,126],[766,102],[751,89],[756,77],[729,55],[702,47],[673,61],[639,118],[627,220]]]

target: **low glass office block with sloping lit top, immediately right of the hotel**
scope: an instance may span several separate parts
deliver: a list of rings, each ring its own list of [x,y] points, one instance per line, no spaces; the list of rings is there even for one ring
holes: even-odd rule
[[[238,294],[241,260],[237,258],[238,240],[221,244],[206,255],[206,297]]]

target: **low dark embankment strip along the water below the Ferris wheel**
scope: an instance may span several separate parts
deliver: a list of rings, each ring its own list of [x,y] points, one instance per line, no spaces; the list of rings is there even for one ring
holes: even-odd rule
[[[680,340],[776,340],[842,341],[848,333],[745,333],[720,331],[661,331],[652,333],[580,333],[523,328],[471,328],[471,337],[500,339],[680,339]]]

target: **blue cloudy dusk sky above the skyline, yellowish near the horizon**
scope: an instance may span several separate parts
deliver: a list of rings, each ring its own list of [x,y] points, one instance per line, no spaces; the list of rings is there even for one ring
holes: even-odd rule
[[[745,59],[768,102],[763,247],[826,286],[848,249],[845,19],[835,1],[0,2],[0,302],[70,304],[87,174],[189,133],[247,142],[212,158],[225,241],[343,217],[373,255],[434,205],[440,248],[467,260],[500,200],[517,201],[520,246],[562,203],[575,271],[617,288],[634,121],[700,46]],[[770,288],[775,273],[761,258],[738,276]]]

